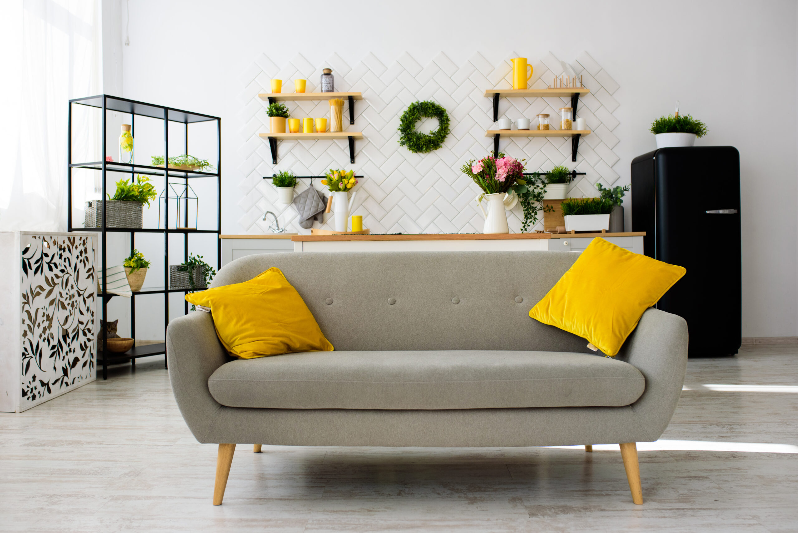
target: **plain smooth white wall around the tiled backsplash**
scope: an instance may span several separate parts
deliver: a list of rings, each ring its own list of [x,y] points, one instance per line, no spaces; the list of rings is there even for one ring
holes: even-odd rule
[[[798,117],[795,99],[783,99],[798,94],[795,2],[384,5],[199,0],[187,9],[185,2],[130,2],[122,96],[223,117],[223,232],[242,231],[237,134],[250,117],[242,116],[239,95],[243,73],[261,53],[277,65],[296,53],[318,65],[335,52],[351,65],[372,52],[389,65],[408,51],[425,65],[440,51],[460,64],[477,51],[498,63],[512,50],[530,59],[551,50],[565,61],[587,50],[621,87],[613,95],[621,104],[614,130],[621,183],[629,181],[634,156],[654,148],[651,120],[671,113],[677,100],[683,113],[708,124],[699,144],[740,150],[743,335],[798,334]],[[711,235],[698,231],[695,238],[712,246]]]

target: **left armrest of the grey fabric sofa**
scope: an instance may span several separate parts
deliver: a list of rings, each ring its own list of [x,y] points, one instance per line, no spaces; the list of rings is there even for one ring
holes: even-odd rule
[[[227,352],[216,337],[210,313],[197,311],[169,322],[166,330],[169,379],[180,414],[199,442],[206,442],[222,406],[211,396],[207,379],[225,364]]]

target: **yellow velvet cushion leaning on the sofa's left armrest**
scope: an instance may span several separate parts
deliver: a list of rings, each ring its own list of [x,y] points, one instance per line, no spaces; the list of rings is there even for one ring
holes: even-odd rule
[[[333,350],[279,268],[272,267],[248,282],[186,294],[186,300],[211,309],[216,335],[234,357]]]

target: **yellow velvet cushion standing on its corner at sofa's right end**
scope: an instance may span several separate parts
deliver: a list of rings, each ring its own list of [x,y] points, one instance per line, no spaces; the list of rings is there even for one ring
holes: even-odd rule
[[[529,316],[586,338],[614,357],[643,312],[686,271],[597,237]]]

